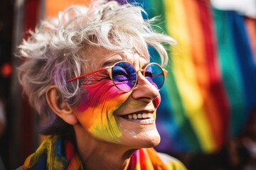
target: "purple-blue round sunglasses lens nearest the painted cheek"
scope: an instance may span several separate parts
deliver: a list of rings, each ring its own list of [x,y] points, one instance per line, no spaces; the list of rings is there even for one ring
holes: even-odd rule
[[[136,84],[136,70],[133,65],[128,62],[118,62],[112,67],[112,80],[118,89],[129,91]]]

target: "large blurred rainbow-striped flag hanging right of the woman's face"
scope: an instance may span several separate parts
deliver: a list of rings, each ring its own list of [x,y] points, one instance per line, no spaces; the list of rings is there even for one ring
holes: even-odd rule
[[[124,1],[119,1],[124,3]],[[129,1],[134,2],[134,1]],[[235,137],[256,106],[256,20],[209,1],[147,0],[156,28],[178,42],[161,90],[161,152],[214,152]],[[151,50],[151,56],[156,55]]]

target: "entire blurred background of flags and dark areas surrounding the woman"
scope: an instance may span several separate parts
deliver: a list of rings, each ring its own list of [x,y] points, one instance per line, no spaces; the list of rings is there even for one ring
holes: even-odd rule
[[[0,1],[0,169],[21,166],[41,142],[38,116],[18,85],[16,46],[42,18],[89,2]],[[256,1],[137,3],[145,18],[159,16],[154,29],[177,41],[161,90],[156,149],[188,169],[256,169]]]

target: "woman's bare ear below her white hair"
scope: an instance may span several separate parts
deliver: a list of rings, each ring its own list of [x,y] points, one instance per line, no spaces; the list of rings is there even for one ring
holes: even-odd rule
[[[78,123],[73,108],[67,102],[62,100],[57,86],[52,85],[48,87],[46,90],[46,101],[50,109],[66,123],[70,125]]]

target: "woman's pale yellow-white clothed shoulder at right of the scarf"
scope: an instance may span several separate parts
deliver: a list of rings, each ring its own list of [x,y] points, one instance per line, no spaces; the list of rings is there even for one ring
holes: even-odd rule
[[[176,169],[176,170],[185,170],[186,166],[182,164],[181,161],[178,159],[171,157],[169,154],[164,154],[161,152],[157,152],[159,155],[159,158],[162,162],[167,166],[168,169]]]

